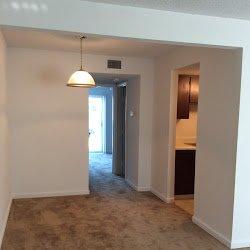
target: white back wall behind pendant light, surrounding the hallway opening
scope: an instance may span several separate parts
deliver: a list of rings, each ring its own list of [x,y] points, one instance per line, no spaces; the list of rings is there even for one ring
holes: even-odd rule
[[[86,69],[141,75],[138,168],[146,173],[137,181],[150,188],[152,102],[147,96],[153,61],[122,58],[124,69],[117,71],[106,69],[108,58],[86,55]],[[10,164],[17,197],[88,192],[88,93],[65,86],[78,60],[78,53],[8,50]]]

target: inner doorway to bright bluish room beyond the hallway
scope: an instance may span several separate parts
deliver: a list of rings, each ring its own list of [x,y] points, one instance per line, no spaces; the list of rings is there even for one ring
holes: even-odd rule
[[[112,172],[113,87],[89,90],[89,165],[96,174]]]

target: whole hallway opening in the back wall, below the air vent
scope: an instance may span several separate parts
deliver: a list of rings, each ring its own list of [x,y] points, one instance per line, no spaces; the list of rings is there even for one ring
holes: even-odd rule
[[[97,87],[89,90],[90,190],[112,189],[118,179],[131,185],[138,163],[140,78],[92,74]]]

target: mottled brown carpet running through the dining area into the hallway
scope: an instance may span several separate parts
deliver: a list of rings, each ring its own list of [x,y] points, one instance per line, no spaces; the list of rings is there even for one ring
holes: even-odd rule
[[[90,195],[14,200],[1,249],[227,249],[184,210],[132,190],[110,163],[90,156]]]

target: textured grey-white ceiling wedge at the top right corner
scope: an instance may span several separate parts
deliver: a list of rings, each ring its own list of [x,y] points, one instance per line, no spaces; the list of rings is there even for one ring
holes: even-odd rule
[[[189,14],[250,20],[249,0],[88,0]]]

